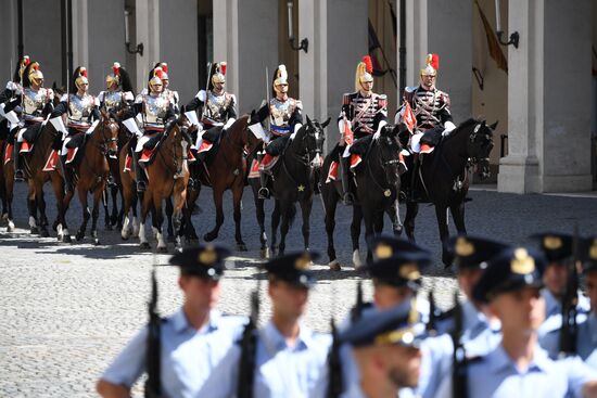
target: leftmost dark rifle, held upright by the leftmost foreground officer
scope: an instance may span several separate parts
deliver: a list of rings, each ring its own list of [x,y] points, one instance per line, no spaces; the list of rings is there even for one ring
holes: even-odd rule
[[[157,313],[157,281],[155,279],[155,269],[151,272],[151,299],[149,301],[149,323],[148,323],[148,354],[145,365],[148,370],[148,380],[145,382],[145,398],[162,397],[161,378],[161,349],[162,349],[162,319]]]

